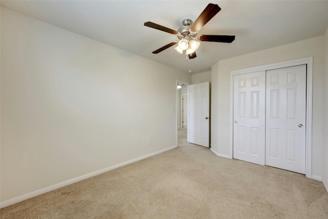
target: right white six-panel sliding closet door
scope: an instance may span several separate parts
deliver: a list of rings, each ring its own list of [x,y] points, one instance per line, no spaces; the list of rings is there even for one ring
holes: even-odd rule
[[[305,174],[306,65],[267,71],[265,165]]]

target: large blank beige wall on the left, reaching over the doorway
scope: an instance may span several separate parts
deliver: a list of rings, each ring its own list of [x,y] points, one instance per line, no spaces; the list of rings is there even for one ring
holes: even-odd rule
[[[1,58],[2,203],[176,144],[189,73],[5,8]]]

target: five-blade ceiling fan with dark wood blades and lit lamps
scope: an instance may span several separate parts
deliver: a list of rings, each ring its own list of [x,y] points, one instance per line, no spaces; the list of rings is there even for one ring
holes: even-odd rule
[[[215,4],[209,4],[197,17],[196,21],[193,23],[191,19],[184,19],[182,21],[183,26],[180,27],[177,31],[155,24],[153,22],[146,22],[144,25],[147,27],[151,27],[157,30],[161,30],[167,33],[174,34],[178,37],[178,41],[174,41],[169,43],[166,46],[163,46],[155,51],[154,54],[157,54],[171,46],[178,44],[175,47],[175,50],[182,54],[184,50],[186,50],[186,55],[191,58],[196,57],[196,50],[200,45],[200,41],[207,42],[220,42],[220,43],[231,43],[235,40],[235,36],[228,35],[197,35],[197,32],[206,25],[212,17],[214,17],[221,8]],[[187,59],[188,59],[187,57]]]

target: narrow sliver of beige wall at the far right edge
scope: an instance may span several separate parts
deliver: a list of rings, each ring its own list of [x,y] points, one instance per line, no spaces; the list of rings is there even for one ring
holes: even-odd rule
[[[322,182],[328,192],[328,28],[324,34]]]

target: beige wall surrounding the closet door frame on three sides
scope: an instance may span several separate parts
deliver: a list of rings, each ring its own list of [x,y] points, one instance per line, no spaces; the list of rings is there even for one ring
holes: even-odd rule
[[[313,56],[312,175],[322,175],[323,36],[245,54],[212,67],[212,150],[230,155],[230,72]],[[217,140],[217,141],[216,141]],[[217,143],[216,143],[217,142]]]

